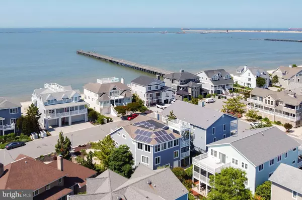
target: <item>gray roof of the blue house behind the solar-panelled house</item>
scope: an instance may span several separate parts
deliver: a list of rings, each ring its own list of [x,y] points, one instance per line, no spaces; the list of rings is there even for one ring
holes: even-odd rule
[[[195,126],[207,129],[222,115],[222,112],[213,109],[198,106],[184,101],[176,101],[168,108],[162,111],[163,115],[169,115],[170,111],[174,112],[178,119],[186,121]],[[237,119],[234,117],[234,120]]]

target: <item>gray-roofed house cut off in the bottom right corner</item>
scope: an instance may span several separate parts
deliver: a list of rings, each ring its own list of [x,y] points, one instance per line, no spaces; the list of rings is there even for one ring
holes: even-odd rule
[[[269,177],[272,181],[271,200],[301,200],[302,170],[281,163]]]

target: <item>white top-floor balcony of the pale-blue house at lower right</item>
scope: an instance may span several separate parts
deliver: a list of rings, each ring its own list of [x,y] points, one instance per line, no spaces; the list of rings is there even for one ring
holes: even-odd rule
[[[231,166],[231,162],[222,163],[218,158],[208,157],[208,153],[193,157],[193,164],[212,174],[220,173],[221,169]]]

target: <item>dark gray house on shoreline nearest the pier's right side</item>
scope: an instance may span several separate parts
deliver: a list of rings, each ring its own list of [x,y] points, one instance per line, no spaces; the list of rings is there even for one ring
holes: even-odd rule
[[[199,76],[190,72],[180,70],[164,76],[166,86],[176,89],[175,99],[183,100],[192,97],[197,98],[199,94],[203,95],[207,91],[202,90],[201,83],[199,83]]]

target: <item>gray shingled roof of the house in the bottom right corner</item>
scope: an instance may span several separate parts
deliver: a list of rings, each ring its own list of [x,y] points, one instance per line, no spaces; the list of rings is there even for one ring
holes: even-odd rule
[[[302,194],[302,170],[281,163],[269,180]]]

